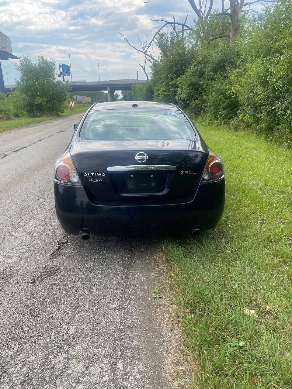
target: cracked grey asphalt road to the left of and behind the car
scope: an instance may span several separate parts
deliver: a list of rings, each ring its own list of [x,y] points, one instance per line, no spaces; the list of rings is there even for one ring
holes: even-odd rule
[[[0,133],[0,387],[169,388],[153,241],[63,232],[53,168],[81,115]]]

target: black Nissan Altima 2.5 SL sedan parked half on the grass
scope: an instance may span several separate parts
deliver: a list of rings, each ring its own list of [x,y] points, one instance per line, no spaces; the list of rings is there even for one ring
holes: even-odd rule
[[[222,160],[174,104],[94,104],[55,165],[63,229],[97,235],[193,233],[224,209]]]

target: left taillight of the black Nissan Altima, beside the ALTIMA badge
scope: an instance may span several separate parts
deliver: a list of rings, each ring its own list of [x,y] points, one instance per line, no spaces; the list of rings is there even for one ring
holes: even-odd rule
[[[55,181],[68,182],[69,184],[82,185],[76,172],[69,151],[65,151],[55,164]]]

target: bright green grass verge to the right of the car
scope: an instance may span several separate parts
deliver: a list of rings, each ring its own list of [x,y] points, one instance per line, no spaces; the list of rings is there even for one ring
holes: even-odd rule
[[[215,230],[164,242],[185,385],[292,388],[292,152],[246,132],[199,131],[225,163],[226,204]]]

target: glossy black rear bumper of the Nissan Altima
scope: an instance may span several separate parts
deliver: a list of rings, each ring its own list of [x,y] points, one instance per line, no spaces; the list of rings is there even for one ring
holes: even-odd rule
[[[225,202],[224,179],[200,184],[192,202],[177,205],[95,205],[82,186],[55,182],[55,207],[64,231],[96,235],[159,235],[214,228]]]

